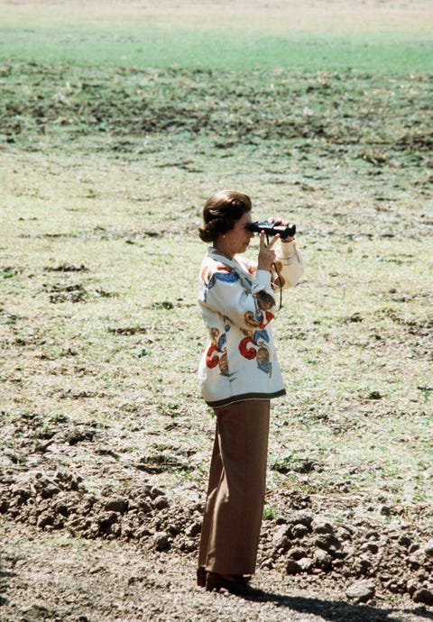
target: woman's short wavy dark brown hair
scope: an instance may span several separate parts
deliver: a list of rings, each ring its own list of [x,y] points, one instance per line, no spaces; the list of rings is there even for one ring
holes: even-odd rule
[[[221,190],[207,199],[203,207],[204,226],[198,229],[203,242],[217,242],[220,234],[235,226],[245,212],[251,212],[251,198],[235,190]]]

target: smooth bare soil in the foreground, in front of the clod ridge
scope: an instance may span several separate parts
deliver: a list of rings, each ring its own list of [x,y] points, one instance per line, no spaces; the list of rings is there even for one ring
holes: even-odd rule
[[[5,532],[2,534],[5,536]],[[151,553],[133,544],[101,540],[69,544],[32,529],[7,538],[3,579],[9,585],[1,619],[122,620],[122,622],[427,622],[422,606],[359,604],[337,583],[294,581],[276,571],[259,572],[263,596],[243,599],[194,585],[193,561]],[[55,547],[55,555],[52,551]],[[14,602],[14,604],[13,604]]]

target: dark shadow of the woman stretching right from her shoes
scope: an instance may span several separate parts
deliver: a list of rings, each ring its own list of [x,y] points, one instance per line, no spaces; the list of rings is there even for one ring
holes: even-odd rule
[[[343,600],[285,596],[264,591],[258,595],[245,596],[243,598],[258,602],[272,602],[276,607],[288,608],[305,614],[314,614],[330,622],[401,622],[401,617],[398,617],[399,613],[419,616],[424,620],[433,620],[433,611],[428,611],[425,608],[399,610],[396,610],[396,608],[376,608],[369,605],[350,604]]]

